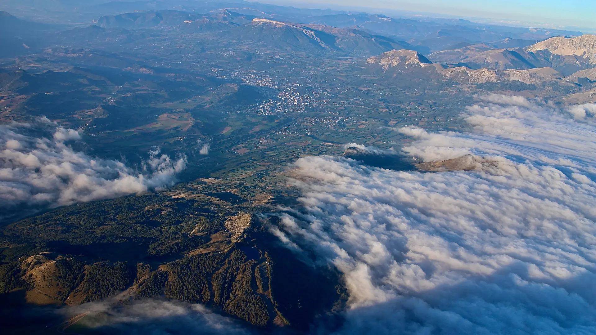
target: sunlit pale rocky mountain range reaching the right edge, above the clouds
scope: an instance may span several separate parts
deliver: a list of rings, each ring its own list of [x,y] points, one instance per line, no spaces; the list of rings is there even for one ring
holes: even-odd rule
[[[437,75],[457,83],[485,84],[515,82],[526,85],[555,85],[560,89],[594,86],[596,36],[551,38],[514,49],[490,49],[488,45],[435,52],[429,58],[411,50],[393,50],[368,58],[373,72],[385,77],[424,71],[429,80]],[[432,63],[430,60],[442,61]],[[450,62],[451,61],[451,62]],[[457,62],[457,63],[456,63]],[[465,63],[464,63],[465,62]],[[453,64],[456,63],[456,64]]]

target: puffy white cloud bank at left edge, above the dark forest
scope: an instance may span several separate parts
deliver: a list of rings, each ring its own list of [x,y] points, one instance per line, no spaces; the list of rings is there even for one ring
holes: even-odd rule
[[[137,172],[74,151],[67,141],[78,139],[74,129],[51,124],[43,129],[0,126],[0,207],[55,207],[159,190],[173,185],[185,168],[184,157],[172,160],[158,150]]]

